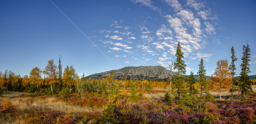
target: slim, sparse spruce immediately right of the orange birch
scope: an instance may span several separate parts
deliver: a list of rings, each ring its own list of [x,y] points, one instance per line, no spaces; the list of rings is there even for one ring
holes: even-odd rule
[[[231,48],[231,64],[230,64],[230,71],[231,71],[231,75],[232,75],[232,89],[231,89],[231,106],[233,105],[233,89],[234,89],[234,76],[236,75],[236,73],[234,72],[234,70],[236,70],[235,68],[235,64],[234,62],[237,61],[237,58],[235,57],[235,51],[234,51],[234,46],[232,46]]]

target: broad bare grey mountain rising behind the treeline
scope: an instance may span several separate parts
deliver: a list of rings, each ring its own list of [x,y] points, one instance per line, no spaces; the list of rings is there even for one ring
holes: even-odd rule
[[[102,73],[95,73],[92,75],[87,76],[91,78],[106,78],[107,75],[111,74],[112,70],[102,72]],[[121,69],[113,70],[115,75],[115,79],[135,79],[135,80],[154,80],[154,81],[168,81],[168,74],[170,74],[170,70],[164,68],[162,66],[137,66],[137,67],[124,67]],[[188,77],[189,75],[185,75]],[[206,76],[208,79],[208,76]],[[256,79],[256,75],[249,76],[252,79]],[[194,75],[195,81],[199,80],[198,75]]]

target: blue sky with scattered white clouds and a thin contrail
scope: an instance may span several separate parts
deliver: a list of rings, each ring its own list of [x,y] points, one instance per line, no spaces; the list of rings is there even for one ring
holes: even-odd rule
[[[166,66],[181,42],[186,70],[207,75],[243,45],[256,74],[255,0],[0,0],[0,71],[29,75],[48,60],[81,76],[126,66]]]

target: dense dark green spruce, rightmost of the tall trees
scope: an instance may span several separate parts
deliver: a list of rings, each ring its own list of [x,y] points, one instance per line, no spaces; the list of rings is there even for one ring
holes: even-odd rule
[[[240,65],[241,73],[240,73],[240,83],[238,83],[238,86],[241,90],[241,99],[244,99],[244,94],[249,94],[253,92],[250,77],[248,76],[248,73],[251,73],[250,71],[250,64],[249,61],[251,58],[251,49],[249,48],[249,45],[247,43],[247,46],[243,45],[243,57],[242,57],[242,64]]]

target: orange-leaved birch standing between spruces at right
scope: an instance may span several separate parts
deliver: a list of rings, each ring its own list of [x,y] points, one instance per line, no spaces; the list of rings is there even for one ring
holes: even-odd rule
[[[232,75],[229,68],[229,61],[227,59],[218,60],[215,72],[209,79],[209,90],[219,92],[220,100],[222,91],[231,88]]]

